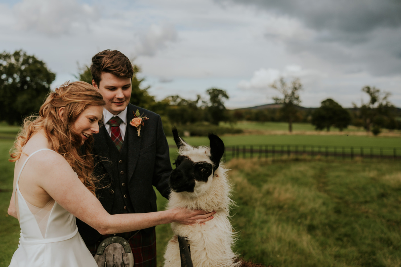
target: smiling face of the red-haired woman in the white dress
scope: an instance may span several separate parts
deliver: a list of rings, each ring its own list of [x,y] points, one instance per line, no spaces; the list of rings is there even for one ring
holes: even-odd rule
[[[99,132],[99,120],[103,114],[102,106],[88,106],[75,120],[74,128],[81,132],[82,143],[89,138],[90,135]]]

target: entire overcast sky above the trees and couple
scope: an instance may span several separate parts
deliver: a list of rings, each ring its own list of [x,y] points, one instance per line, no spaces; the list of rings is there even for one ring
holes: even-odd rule
[[[301,79],[302,106],[360,104],[370,85],[401,107],[399,0],[0,0],[0,50],[17,49],[47,63],[52,87],[117,49],[158,100],[218,87],[229,108],[267,104],[283,76]]]

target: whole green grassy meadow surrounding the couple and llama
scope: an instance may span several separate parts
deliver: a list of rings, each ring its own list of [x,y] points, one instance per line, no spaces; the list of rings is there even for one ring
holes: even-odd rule
[[[274,126],[274,125],[273,125]],[[277,128],[283,125],[276,125]],[[307,127],[307,126],[305,126]],[[306,129],[309,130],[309,129]],[[13,163],[8,151],[18,127],[0,124],[0,267],[18,246],[18,221],[7,215]],[[226,135],[233,145],[401,147],[399,137],[364,135]],[[187,137],[208,145],[206,137]],[[172,138],[168,143],[174,145]],[[176,150],[170,149],[170,157]],[[227,163],[237,203],[234,250],[279,267],[401,267],[401,164],[391,160],[233,159]],[[158,194],[158,192],[156,192]],[[166,199],[158,194],[158,208]],[[156,227],[162,266],[170,225]]]

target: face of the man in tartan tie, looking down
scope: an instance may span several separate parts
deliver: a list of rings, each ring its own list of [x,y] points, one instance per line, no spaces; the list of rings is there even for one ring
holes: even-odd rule
[[[101,93],[104,106],[111,114],[117,115],[122,112],[130,102],[131,79],[124,76],[116,76],[109,72],[102,72],[99,85],[92,80],[93,86]]]

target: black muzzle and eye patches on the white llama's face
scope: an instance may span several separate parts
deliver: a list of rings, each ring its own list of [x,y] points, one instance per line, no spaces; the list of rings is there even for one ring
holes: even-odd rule
[[[176,169],[170,175],[170,187],[174,192],[194,192],[196,182],[207,183],[213,173],[213,165],[205,161],[194,162],[189,157],[178,156]]]

